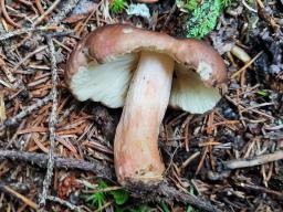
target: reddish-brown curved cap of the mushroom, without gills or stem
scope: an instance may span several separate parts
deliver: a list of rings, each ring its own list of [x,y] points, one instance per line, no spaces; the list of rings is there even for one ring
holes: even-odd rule
[[[224,62],[210,45],[193,39],[179,40],[159,32],[114,24],[102,26],[78,42],[66,63],[66,83],[80,99],[73,83],[82,67],[87,68],[90,62],[96,66],[107,64],[119,56],[139,51],[154,51],[171,56],[177,64],[195,70],[207,86],[217,87],[227,81]]]

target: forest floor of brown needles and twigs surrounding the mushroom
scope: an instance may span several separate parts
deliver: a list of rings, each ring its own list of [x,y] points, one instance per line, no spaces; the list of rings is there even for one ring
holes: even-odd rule
[[[116,182],[122,109],[76,100],[64,63],[105,24],[185,38],[188,13],[172,0],[144,18],[112,13],[106,0],[0,6],[0,211],[283,211],[282,0],[233,2],[203,38],[226,61],[227,92],[202,115],[167,110],[166,183],[151,193]]]

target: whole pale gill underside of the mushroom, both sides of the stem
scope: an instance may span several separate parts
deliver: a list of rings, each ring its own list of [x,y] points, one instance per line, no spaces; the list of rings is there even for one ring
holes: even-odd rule
[[[103,64],[93,61],[81,66],[72,78],[73,94],[78,100],[92,99],[111,108],[123,107],[138,57],[138,53],[132,53],[109,57]],[[206,86],[198,73],[175,63],[170,107],[202,114],[213,108],[220,98],[218,88]]]

